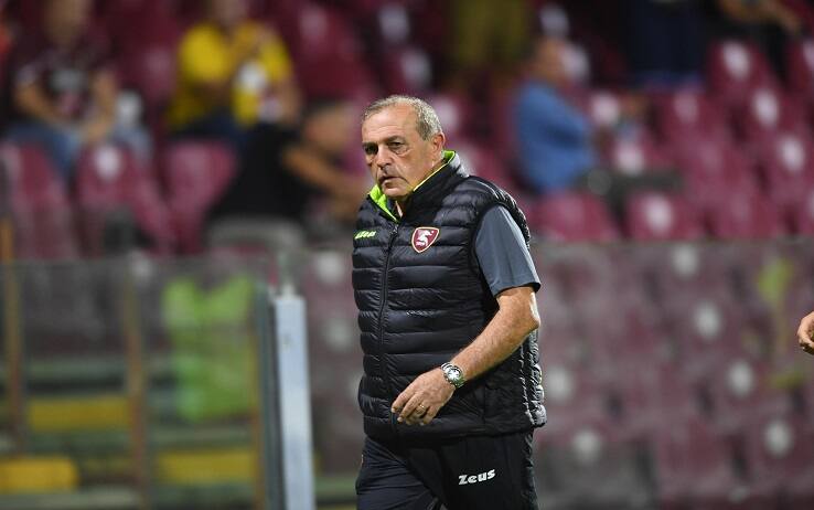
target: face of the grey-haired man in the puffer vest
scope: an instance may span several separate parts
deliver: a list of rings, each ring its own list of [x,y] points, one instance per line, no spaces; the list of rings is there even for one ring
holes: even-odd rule
[[[409,105],[387,107],[362,125],[362,148],[374,182],[389,199],[405,200],[441,160],[443,134],[428,140]]]

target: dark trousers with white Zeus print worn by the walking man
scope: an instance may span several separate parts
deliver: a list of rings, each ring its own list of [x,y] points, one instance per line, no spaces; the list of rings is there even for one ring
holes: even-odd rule
[[[365,439],[358,510],[537,510],[532,432],[408,445]],[[443,507],[441,507],[443,504]]]

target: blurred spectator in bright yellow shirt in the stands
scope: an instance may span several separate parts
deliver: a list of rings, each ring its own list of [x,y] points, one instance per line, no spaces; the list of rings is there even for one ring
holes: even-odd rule
[[[181,137],[219,138],[242,147],[258,120],[291,125],[299,94],[280,38],[248,19],[245,0],[208,0],[178,52],[179,86],[169,111]]]

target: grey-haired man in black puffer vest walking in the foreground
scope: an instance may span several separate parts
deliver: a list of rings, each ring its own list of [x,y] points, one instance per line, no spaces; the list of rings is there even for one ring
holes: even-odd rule
[[[390,96],[363,114],[375,185],[353,251],[358,508],[536,509],[532,432],[546,415],[528,229],[445,142],[424,100]]]

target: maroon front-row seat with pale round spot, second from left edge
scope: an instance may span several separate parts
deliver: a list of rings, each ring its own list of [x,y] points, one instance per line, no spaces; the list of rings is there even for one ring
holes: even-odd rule
[[[141,168],[124,148],[103,145],[82,153],[76,198],[89,255],[105,253],[106,229],[111,222],[135,221],[158,253],[170,253],[175,245],[170,213],[158,184],[150,170]]]

